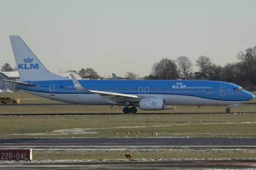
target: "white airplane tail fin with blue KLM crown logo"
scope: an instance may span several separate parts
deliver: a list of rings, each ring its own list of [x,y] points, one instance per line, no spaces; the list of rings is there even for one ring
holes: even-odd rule
[[[20,36],[10,36],[10,41],[21,81],[68,79],[48,71]]]

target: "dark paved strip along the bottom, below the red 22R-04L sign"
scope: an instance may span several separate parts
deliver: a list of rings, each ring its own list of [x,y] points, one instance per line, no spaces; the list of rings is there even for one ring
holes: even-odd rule
[[[107,162],[0,162],[1,170],[90,169],[90,170],[177,170],[213,168],[254,168],[255,160],[166,160]]]

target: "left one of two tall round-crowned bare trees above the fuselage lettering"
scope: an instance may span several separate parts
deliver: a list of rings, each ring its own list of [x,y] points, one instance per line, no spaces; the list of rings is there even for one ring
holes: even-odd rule
[[[193,63],[186,56],[180,56],[176,59],[178,68],[180,69],[181,76],[188,79],[193,70]]]

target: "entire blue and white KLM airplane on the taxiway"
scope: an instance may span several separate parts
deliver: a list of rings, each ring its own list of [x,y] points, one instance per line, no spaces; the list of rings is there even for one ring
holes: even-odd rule
[[[203,80],[77,80],[48,71],[19,36],[10,36],[20,81],[18,89],[66,103],[124,106],[123,112],[163,110],[166,105],[226,106],[249,101],[254,95],[222,81]]]

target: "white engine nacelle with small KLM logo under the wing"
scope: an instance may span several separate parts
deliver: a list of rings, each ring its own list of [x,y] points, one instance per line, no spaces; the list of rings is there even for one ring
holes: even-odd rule
[[[163,98],[151,97],[140,100],[141,110],[164,110],[165,100]]]

